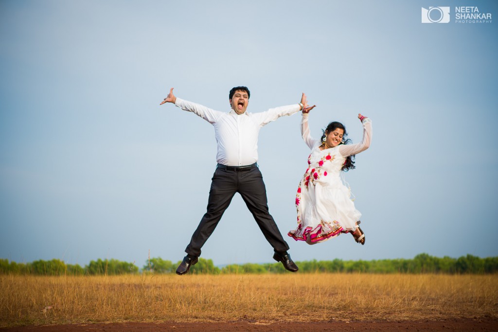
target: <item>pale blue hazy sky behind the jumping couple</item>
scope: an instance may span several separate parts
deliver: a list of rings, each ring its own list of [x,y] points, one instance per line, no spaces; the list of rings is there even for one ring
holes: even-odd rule
[[[497,23],[421,23],[421,7],[495,1],[0,1],[0,257],[86,265],[174,262],[205,213],[213,127],[177,97],[229,111],[317,108],[373,142],[346,180],[366,244],[309,246],[294,198],[308,148],[300,115],[259,135],[270,213],[294,260],[497,256]],[[451,16],[454,17],[454,16]],[[270,262],[236,196],[203,247],[215,264]]]

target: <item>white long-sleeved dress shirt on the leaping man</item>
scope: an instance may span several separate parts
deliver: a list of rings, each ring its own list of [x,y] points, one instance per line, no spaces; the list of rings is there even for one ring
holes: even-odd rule
[[[218,144],[216,161],[226,166],[246,166],[257,162],[257,137],[259,129],[283,115],[300,110],[299,104],[281,106],[268,111],[237,114],[234,110],[221,112],[176,98],[175,106],[194,112],[215,127]]]

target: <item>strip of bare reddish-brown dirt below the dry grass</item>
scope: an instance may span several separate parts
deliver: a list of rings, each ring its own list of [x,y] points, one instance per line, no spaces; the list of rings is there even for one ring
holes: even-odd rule
[[[45,325],[15,328],[0,328],[1,332],[291,332],[291,331],[486,331],[497,332],[496,319],[463,319],[452,321],[399,321],[399,322],[322,322],[322,323],[257,323],[257,322],[224,322],[224,323],[110,323],[86,325]]]

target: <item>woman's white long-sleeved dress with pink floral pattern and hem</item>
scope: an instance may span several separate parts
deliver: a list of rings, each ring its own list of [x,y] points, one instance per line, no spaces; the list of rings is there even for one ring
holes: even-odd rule
[[[358,144],[341,144],[320,150],[322,142],[310,136],[308,115],[303,114],[301,134],[311,149],[308,169],[296,194],[297,228],[288,235],[296,241],[315,244],[355,231],[362,214],[350,198],[350,190],[340,178],[346,158],[365,151],[372,139],[372,121],[363,120],[363,139]]]

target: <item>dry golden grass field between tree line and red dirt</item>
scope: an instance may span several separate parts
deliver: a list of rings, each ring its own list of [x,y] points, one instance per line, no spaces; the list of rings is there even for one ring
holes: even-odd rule
[[[497,275],[4,275],[0,327],[497,318],[497,290]]]

